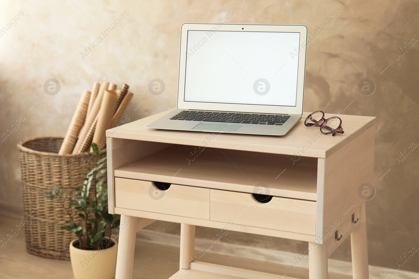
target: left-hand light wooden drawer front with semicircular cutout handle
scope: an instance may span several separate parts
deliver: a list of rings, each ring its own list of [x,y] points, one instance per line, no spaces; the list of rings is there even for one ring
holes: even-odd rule
[[[209,189],[171,184],[160,190],[150,181],[115,177],[115,206],[209,220]]]

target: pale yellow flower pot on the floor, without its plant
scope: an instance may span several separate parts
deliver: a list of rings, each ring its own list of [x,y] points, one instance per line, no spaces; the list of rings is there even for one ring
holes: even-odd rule
[[[110,240],[108,240],[110,243]],[[115,276],[116,252],[118,243],[110,248],[101,250],[82,250],[70,243],[70,259],[73,269],[74,279],[112,279]]]

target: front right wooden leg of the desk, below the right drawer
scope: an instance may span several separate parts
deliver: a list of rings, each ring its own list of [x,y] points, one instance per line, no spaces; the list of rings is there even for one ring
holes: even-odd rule
[[[327,279],[327,246],[326,244],[308,243],[308,278]]]

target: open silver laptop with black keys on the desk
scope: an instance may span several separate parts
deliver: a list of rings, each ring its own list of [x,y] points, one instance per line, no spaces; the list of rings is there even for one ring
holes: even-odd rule
[[[147,128],[282,136],[303,114],[307,27],[184,23],[177,109]]]

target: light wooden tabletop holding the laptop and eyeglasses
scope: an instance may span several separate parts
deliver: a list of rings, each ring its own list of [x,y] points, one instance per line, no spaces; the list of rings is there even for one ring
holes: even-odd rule
[[[375,117],[371,116],[337,115],[342,119],[342,127],[345,133],[336,133],[336,136],[323,135],[320,133],[319,127],[306,127],[304,120],[309,113],[303,113],[303,118],[300,122],[285,136],[215,133],[215,136],[210,138],[209,136],[213,133],[145,128],[146,125],[166,115],[171,110],[109,129],[106,131],[106,136],[140,141],[326,158],[374,125],[376,120]],[[325,117],[329,118],[331,116],[336,116],[336,114],[326,114]]]

